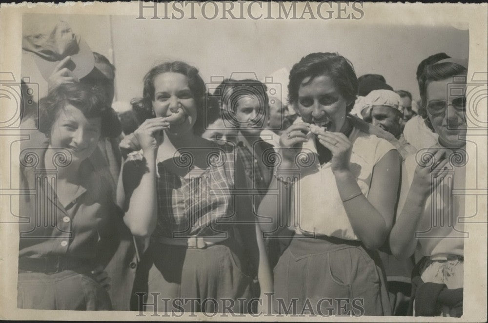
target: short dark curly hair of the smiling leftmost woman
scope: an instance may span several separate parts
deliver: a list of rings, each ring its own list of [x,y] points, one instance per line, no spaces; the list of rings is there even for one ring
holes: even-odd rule
[[[115,138],[122,133],[119,118],[107,104],[103,90],[83,83],[61,84],[41,98],[37,120],[39,131],[49,136],[61,110],[68,104],[79,109],[86,118],[101,117],[102,137]]]

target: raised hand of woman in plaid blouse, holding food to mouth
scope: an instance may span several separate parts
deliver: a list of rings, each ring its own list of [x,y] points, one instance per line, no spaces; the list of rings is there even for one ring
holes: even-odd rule
[[[134,132],[143,152],[156,152],[163,142],[161,131],[169,128],[169,122],[163,117],[146,119]]]

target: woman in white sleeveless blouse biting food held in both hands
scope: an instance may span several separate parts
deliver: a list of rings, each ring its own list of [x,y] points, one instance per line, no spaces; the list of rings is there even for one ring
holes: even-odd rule
[[[303,57],[290,72],[288,90],[303,122],[282,134],[274,179],[258,212],[273,220],[261,223],[263,231],[295,231],[274,268],[277,310],[298,299],[298,312],[312,306],[328,314],[388,315],[374,250],[392,226],[401,157],[347,116],[358,80],[345,57]],[[278,211],[271,188],[290,194],[291,203]]]

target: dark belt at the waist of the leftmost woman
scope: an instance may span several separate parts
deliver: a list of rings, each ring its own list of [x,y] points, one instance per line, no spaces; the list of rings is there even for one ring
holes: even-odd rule
[[[89,270],[91,264],[86,259],[58,256],[58,257],[20,257],[19,271],[42,272],[54,274],[63,270],[84,269]]]

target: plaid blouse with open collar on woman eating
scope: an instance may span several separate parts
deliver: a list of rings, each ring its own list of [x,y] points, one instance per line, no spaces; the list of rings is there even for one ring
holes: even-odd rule
[[[173,161],[178,167],[189,169],[184,176],[156,162],[158,220],[153,237],[215,236],[228,232],[230,225],[225,220],[235,220],[231,194],[235,184],[233,147],[208,148],[206,169],[193,167],[191,152],[180,153]],[[129,154],[128,160],[142,161],[142,152]]]

